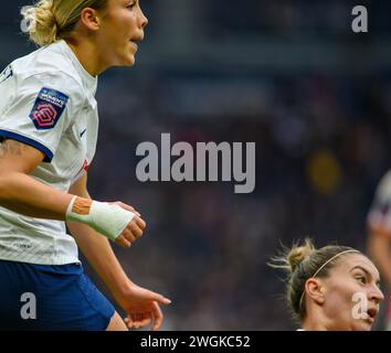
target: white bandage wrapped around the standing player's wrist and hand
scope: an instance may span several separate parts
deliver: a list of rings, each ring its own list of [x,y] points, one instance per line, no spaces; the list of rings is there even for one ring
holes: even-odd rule
[[[133,212],[118,205],[98,201],[92,201],[91,206],[80,211],[75,206],[76,200],[77,196],[73,197],[66,210],[66,221],[87,224],[112,240],[115,240],[125,231],[135,216]]]

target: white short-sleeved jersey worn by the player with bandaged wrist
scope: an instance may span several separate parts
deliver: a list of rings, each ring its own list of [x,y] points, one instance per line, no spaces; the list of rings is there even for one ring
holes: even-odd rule
[[[65,41],[12,62],[0,75],[0,140],[33,146],[45,159],[31,176],[67,192],[96,149],[97,77]],[[0,259],[38,265],[80,263],[64,222],[27,217],[0,207]]]

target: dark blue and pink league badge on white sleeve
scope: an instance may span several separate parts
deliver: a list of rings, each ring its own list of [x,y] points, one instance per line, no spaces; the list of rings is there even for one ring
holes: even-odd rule
[[[30,113],[35,128],[38,130],[53,129],[61,118],[67,100],[68,96],[59,90],[42,88]]]

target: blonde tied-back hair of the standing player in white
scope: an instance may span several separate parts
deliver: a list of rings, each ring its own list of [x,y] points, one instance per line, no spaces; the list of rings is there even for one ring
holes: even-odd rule
[[[108,0],[40,0],[22,15],[29,23],[30,40],[42,46],[65,39],[74,30],[85,8],[102,10]]]

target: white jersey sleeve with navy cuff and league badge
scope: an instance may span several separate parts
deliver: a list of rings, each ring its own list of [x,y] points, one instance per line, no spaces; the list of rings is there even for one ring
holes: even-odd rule
[[[63,73],[10,76],[0,83],[0,138],[30,145],[51,162],[81,106],[81,89]]]

